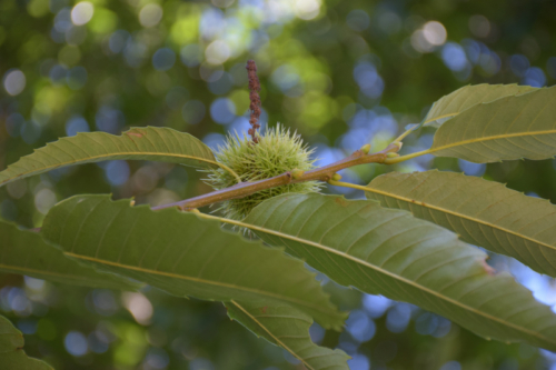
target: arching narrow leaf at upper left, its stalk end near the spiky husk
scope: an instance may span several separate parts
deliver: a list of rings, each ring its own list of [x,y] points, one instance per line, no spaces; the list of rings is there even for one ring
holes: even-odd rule
[[[80,132],[22,157],[0,172],[0,186],[60,167],[116,159],[163,161],[191,167],[218,167],[209,147],[189,133],[169,128],[133,128],[121,136]]]

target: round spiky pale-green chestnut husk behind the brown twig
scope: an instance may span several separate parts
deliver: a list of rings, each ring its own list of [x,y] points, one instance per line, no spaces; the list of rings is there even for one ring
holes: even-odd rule
[[[308,171],[314,168],[310,159],[312,150],[304,144],[302,139],[296,132],[278,124],[268,129],[259,137],[259,142],[254,143],[249,137],[230,134],[224,144],[218,147],[216,158],[222,164],[232,169],[241,181],[257,181],[268,179],[286,171],[299,169]],[[206,182],[216,190],[231,187],[237,183],[236,178],[222,169],[209,170],[210,174]],[[307,181],[281,186],[268,190],[261,190],[251,196],[227,200],[221,203],[220,210],[225,217],[234,220],[242,220],[249,212],[266,199],[286,192],[318,192],[318,181]]]

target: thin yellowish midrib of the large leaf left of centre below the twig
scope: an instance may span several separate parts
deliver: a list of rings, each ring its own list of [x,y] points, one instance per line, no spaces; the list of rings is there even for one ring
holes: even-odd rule
[[[302,301],[302,300],[297,300],[297,299],[292,299],[292,298],[287,297],[287,296],[280,296],[280,294],[276,294],[276,293],[271,293],[271,292],[267,292],[267,291],[261,291],[261,290],[257,290],[257,289],[252,289],[252,288],[247,288],[247,287],[241,287],[241,286],[236,286],[236,284],[230,284],[230,283],[224,283],[224,282],[214,281],[214,280],[206,280],[206,279],[196,278],[196,277],[187,277],[187,276],[182,276],[179,273],[145,269],[145,268],[136,267],[136,266],[129,266],[129,264],[123,264],[123,263],[119,263],[119,262],[108,261],[108,260],[103,260],[100,258],[76,254],[72,252],[64,251],[63,254],[66,254],[70,258],[76,258],[76,259],[81,259],[81,260],[86,260],[86,261],[90,261],[90,262],[97,262],[97,263],[101,263],[101,264],[112,266],[112,267],[117,267],[117,268],[121,268],[121,269],[128,269],[128,270],[132,270],[132,271],[137,271],[137,272],[158,274],[158,276],[162,276],[162,277],[167,277],[167,278],[188,280],[188,281],[193,281],[193,282],[199,282],[199,283],[206,283],[209,286],[216,286],[216,287],[237,289],[240,291],[246,291],[246,292],[256,293],[259,296],[275,298],[275,299],[278,299],[281,301],[286,301],[286,302],[292,302],[292,303],[299,304],[301,307],[307,307],[307,308],[310,308],[312,310],[317,310],[319,312],[322,312],[324,314],[330,314],[329,311],[322,310],[322,308],[320,306],[307,304],[307,302]]]

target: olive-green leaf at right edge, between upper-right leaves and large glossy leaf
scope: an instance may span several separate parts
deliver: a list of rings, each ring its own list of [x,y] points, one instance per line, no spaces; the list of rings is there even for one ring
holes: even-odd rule
[[[556,207],[504,184],[455,172],[390,172],[366,192],[457,232],[469,243],[514,257],[556,277]]]

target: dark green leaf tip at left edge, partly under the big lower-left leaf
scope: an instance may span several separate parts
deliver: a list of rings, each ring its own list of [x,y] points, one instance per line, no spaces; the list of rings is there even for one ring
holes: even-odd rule
[[[136,290],[139,284],[112,273],[95,271],[63,256],[39,233],[0,220],[0,271],[66,284]]]

